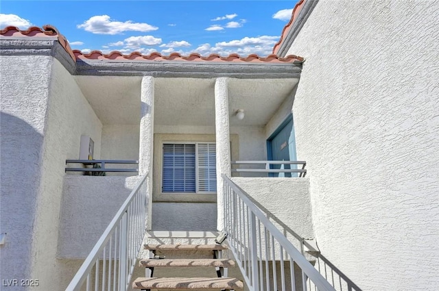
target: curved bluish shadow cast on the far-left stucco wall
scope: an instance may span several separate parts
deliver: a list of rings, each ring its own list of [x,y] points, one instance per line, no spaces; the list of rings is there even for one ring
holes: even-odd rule
[[[21,118],[0,113],[0,279],[29,279],[43,135]],[[20,290],[20,287],[14,287]]]

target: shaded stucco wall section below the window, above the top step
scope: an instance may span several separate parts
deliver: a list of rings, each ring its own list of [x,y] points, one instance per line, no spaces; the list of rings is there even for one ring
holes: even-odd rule
[[[215,231],[216,203],[152,203],[152,230]]]

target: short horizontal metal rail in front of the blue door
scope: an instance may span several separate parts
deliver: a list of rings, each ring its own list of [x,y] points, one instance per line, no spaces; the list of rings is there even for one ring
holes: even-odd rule
[[[305,177],[307,170],[305,161],[232,161],[232,165],[263,165],[265,168],[234,168],[232,172],[241,173],[299,173],[299,177]],[[271,168],[272,165],[302,165],[302,168]]]

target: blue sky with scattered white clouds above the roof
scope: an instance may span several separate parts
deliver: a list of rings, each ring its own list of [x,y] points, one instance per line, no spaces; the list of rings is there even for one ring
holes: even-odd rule
[[[296,1],[5,1],[0,28],[50,24],[84,53],[268,55]]]

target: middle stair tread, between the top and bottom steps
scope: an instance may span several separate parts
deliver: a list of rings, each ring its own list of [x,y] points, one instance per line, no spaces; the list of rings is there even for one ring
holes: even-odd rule
[[[227,259],[147,259],[141,260],[143,267],[229,267],[235,266],[235,261]]]

